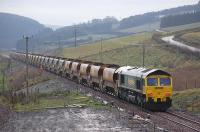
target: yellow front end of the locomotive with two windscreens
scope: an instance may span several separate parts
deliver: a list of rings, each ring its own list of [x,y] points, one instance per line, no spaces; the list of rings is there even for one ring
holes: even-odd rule
[[[172,77],[168,73],[147,76],[143,88],[146,107],[151,110],[167,110],[172,104],[172,90]]]

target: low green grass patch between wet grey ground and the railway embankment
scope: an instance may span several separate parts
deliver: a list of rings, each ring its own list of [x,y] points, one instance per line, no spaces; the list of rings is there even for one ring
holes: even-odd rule
[[[95,109],[108,108],[101,102],[93,100],[88,96],[84,96],[77,92],[52,92],[39,95],[37,102],[29,104],[17,103],[14,106],[15,111],[32,111],[49,107],[64,107],[69,105],[81,105]]]

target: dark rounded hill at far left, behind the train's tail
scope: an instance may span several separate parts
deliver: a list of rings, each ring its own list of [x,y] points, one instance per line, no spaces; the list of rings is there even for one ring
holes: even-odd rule
[[[8,13],[0,13],[0,48],[15,48],[23,35],[34,35],[45,27],[37,21]]]

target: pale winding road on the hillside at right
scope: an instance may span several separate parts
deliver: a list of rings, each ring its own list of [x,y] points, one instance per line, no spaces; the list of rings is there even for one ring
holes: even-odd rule
[[[178,47],[180,47],[184,50],[188,50],[188,51],[200,54],[200,49],[186,45],[182,42],[175,41],[174,36],[163,37],[162,40],[167,42],[170,45],[175,45],[175,46],[178,46]]]

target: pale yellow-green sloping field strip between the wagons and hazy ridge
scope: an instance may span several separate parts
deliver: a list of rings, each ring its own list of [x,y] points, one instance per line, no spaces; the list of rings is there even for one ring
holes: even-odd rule
[[[140,43],[145,39],[149,38],[151,38],[150,33],[141,33],[127,37],[105,40],[102,42],[102,51],[105,52],[117,48],[123,48],[124,46]],[[100,53],[100,51],[101,51],[101,43],[95,42],[78,47],[59,49],[58,51],[56,51],[56,55],[68,58],[79,58],[92,54],[97,54]]]

